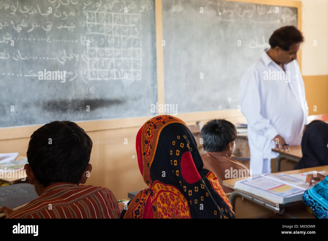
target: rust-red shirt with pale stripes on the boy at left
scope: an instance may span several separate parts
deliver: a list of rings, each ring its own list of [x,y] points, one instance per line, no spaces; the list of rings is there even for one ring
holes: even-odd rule
[[[107,188],[55,183],[7,218],[119,218],[113,192]]]

